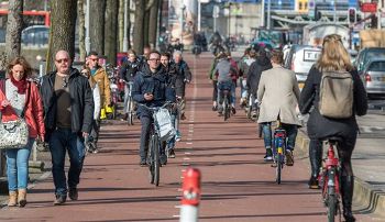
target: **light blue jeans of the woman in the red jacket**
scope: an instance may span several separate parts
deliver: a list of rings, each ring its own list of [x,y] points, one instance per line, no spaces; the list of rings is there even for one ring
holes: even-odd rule
[[[6,149],[8,189],[26,189],[29,180],[29,158],[35,138],[30,138],[22,148]]]

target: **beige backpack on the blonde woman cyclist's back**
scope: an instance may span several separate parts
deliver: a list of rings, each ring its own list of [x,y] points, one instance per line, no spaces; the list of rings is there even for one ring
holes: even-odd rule
[[[322,71],[319,89],[319,112],[326,118],[346,119],[353,115],[353,77],[348,71]]]

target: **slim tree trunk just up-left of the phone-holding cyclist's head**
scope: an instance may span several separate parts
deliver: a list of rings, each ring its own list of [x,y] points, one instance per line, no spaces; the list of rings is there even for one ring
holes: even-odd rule
[[[135,0],[135,26],[133,33],[133,48],[138,54],[143,54],[144,38],[144,12],[145,1]]]

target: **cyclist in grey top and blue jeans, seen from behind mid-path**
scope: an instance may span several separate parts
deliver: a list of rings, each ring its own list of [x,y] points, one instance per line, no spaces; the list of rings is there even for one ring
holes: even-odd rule
[[[217,56],[218,58],[218,64],[213,70],[215,75],[217,76],[218,79],[218,115],[222,115],[223,107],[223,98],[221,98],[221,92],[226,89],[231,91],[231,111],[234,114],[235,113],[235,98],[233,97],[235,91],[235,85],[233,82],[232,77],[237,75],[237,70],[234,67],[231,65],[228,55],[224,52],[221,52]]]

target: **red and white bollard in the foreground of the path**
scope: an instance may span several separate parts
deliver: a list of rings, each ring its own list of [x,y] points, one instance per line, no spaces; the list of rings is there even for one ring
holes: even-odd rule
[[[188,168],[183,176],[179,222],[197,222],[200,201],[200,171],[196,168]]]

